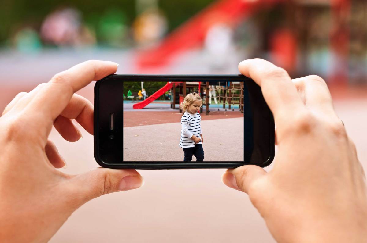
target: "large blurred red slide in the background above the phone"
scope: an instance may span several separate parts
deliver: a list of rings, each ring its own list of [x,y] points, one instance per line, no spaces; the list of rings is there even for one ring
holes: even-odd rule
[[[284,0],[219,0],[173,31],[157,47],[139,53],[137,65],[139,68],[167,65],[178,53],[202,45],[212,25],[226,23],[235,26],[259,9],[269,8],[281,1]]]

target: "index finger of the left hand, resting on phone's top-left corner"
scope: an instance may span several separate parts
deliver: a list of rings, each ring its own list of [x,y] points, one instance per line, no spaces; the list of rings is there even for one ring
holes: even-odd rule
[[[117,66],[112,61],[89,60],[60,72],[38,92],[24,112],[37,127],[46,128],[47,138],[54,120],[69,104],[73,94],[91,81],[115,73]]]

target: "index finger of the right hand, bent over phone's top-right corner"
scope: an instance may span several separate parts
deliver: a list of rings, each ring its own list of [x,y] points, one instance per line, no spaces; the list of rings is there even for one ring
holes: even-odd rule
[[[241,61],[238,68],[243,75],[253,79],[261,87],[275,122],[281,124],[280,121],[289,119],[290,114],[306,109],[292,79],[283,68],[258,58]]]

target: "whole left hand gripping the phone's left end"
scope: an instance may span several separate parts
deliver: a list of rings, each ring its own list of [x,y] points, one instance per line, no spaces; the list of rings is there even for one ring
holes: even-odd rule
[[[90,199],[141,186],[142,177],[133,169],[66,175],[55,169],[65,163],[47,139],[54,125],[67,141],[79,140],[72,119],[93,134],[93,106],[74,93],[116,70],[110,61],[80,63],[19,93],[6,107],[0,118],[1,242],[47,242]]]

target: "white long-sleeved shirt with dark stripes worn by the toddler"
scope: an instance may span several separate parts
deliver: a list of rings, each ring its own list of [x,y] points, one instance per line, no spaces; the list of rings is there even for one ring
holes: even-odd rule
[[[196,114],[190,114],[189,112],[185,112],[181,117],[181,138],[179,146],[182,148],[187,147],[195,147],[195,141],[191,139],[194,135],[201,140],[200,134],[201,126],[200,126],[201,116],[199,112]],[[201,144],[201,141],[197,144]]]

